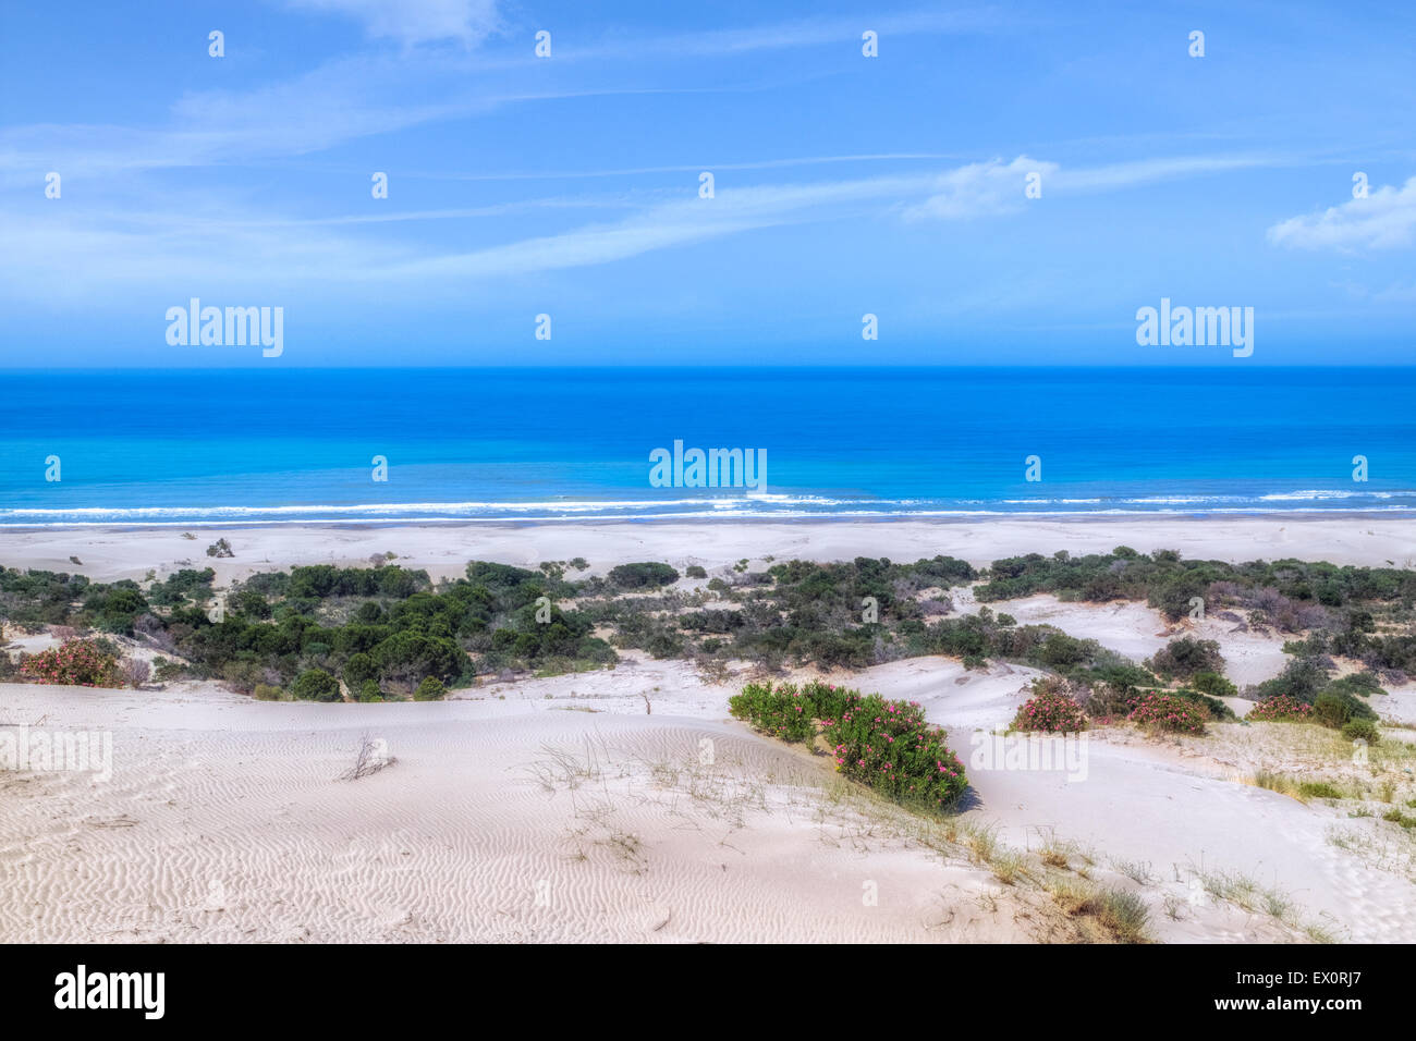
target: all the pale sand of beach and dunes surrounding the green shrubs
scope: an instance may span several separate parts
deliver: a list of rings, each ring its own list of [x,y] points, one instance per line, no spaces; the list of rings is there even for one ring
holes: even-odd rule
[[[218,537],[232,557],[204,554]],[[984,568],[1119,545],[1416,567],[1416,525],[1368,516],[76,527],[3,530],[0,564],[96,582],[210,565],[221,591],[374,555],[436,581],[472,559],[535,568],[581,557],[586,576],[666,561],[712,575],[742,561],[756,571],[940,554]],[[963,591],[953,613],[981,606]],[[1281,635],[1168,622],[1143,602],[1035,595],[988,608],[1133,660],[1178,633],[1214,639],[1240,687],[1286,661]],[[11,652],[55,642],[8,636]],[[925,656],[792,670],[919,701],[947,729],[970,796],[946,821],[922,823],[844,783],[828,758],[733,719],[728,698],[749,673],[708,677],[622,652],[613,669],[479,683],[422,704],[261,702],[214,680],[0,684],[0,735],[112,735],[106,779],[0,770],[0,940],[1104,939],[1068,887],[1134,894],[1148,938],[1163,942],[1416,939],[1409,838],[1255,783],[1260,772],[1355,778],[1341,739],[1298,734],[1317,728],[1219,724],[1194,739],[1102,728],[1062,749],[1073,755],[1065,768],[1038,768],[1025,745],[1012,746],[1017,762],[1001,745],[988,752],[1041,676],[1029,666]],[[1376,708],[1388,748],[1416,739],[1416,684],[1391,687]],[[365,746],[378,769],[347,779]],[[1408,759],[1378,765],[1398,802],[1413,795]]]

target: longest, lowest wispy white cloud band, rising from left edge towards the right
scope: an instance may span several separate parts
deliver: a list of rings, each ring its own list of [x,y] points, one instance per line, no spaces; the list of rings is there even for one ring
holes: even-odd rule
[[[16,282],[74,288],[130,285],[137,280],[207,278],[227,282],[278,280],[330,285],[382,280],[439,285],[493,282],[538,272],[612,263],[650,252],[691,246],[758,229],[850,220],[860,215],[906,221],[966,221],[1022,211],[1025,178],[1041,173],[1044,184],[1063,191],[1104,191],[1164,177],[1228,169],[1223,157],[1174,159],[1068,170],[1049,160],[1020,156],[1011,161],[969,163],[943,171],[852,180],[724,187],[714,198],[698,198],[685,186],[677,200],[549,198],[490,207],[353,214],[320,218],[239,212],[210,204],[207,212],[164,217],[78,212],[48,218],[16,217],[0,231],[6,255],[23,256]],[[430,241],[389,241],[355,232],[358,225],[404,224],[500,217],[525,210],[632,207],[616,220],[565,231],[517,238],[476,249],[447,251]],[[181,212],[181,207],[174,207]],[[48,211],[41,211],[47,214]],[[340,225],[348,231],[340,229]]]

